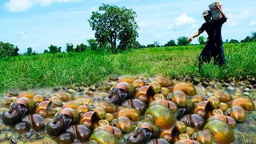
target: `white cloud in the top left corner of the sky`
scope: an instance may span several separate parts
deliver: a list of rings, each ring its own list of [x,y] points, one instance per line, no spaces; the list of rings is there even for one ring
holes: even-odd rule
[[[71,2],[79,0],[9,0],[4,6],[10,10],[10,12],[21,12],[30,9],[34,5],[48,6],[52,2]]]

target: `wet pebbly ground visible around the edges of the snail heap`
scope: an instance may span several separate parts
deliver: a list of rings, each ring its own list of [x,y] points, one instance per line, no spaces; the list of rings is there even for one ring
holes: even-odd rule
[[[174,81],[174,83],[178,83],[179,81]],[[70,95],[73,96],[74,99],[77,98],[92,98],[95,101],[106,96],[110,90],[110,86],[114,85],[115,82],[106,82],[104,86],[82,86],[79,84],[73,84],[70,86],[58,86],[58,87],[50,87],[50,88],[42,88],[37,90],[26,90],[32,91],[35,94],[42,94],[45,97],[51,96],[56,91],[66,91]],[[208,86],[207,86],[208,85]],[[210,88],[214,88],[215,90],[224,90],[226,94],[230,94],[233,98],[237,98],[240,96],[248,97],[254,100],[254,105],[256,103],[256,90],[254,87],[250,86],[250,83],[246,82],[194,82],[194,86],[196,87],[197,94],[202,96],[210,96],[212,93],[209,91]],[[96,88],[97,87],[97,88]],[[22,91],[18,91],[18,93],[22,93]],[[6,108],[0,109],[0,114],[6,110]],[[46,122],[50,122],[51,118],[46,118]],[[234,135],[235,141],[234,144],[256,144],[256,111],[247,112],[246,122],[237,123],[235,126]],[[23,142],[21,142],[21,140]],[[1,143],[55,143],[53,138],[51,138],[48,134],[46,134],[46,130],[40,133],[31,131],[26,134],[18,134],[12,131],[10,126],[6,126],[0,121],[0,142]]]

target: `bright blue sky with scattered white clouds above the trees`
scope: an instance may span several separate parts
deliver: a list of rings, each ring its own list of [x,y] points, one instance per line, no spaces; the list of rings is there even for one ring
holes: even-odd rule
[[[19,53],[32,47],[38,53],[50,44],[78,45],[94,38],[89,22],[91,12],[102,3],[133,9],[143,45],[191,36],[202,26],[202,12],[212,0],[2,0],[0,2],[0,41],[18,46]],[[256,31],[255,0],[223,0],[228,20],[222,26],[222,38],[242,40]],[[206,32],[202,34],[207,36]],[[194,38],[192,43],[198,43]]]

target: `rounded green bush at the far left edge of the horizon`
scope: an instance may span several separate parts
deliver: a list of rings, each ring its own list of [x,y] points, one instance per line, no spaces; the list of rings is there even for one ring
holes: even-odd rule
[[[0,57],[6,58],[18,55],[18,46],[14,46],[8,42],[0,42]]]

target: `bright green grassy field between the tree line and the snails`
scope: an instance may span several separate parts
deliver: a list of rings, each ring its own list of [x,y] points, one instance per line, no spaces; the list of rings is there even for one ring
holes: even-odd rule
[[[199,78],[256,76],[256,43],[224,44],[226,67],[202,67],[198,73],[198,55],[204,46],[173,46],[129,50],[122,54],[98,51],[84,53],[39,54],[0,59],[0,92],[44,86],[62,86],[74,82],[92,84],[110,74],[162,74],[167,77],[195,74]]]

